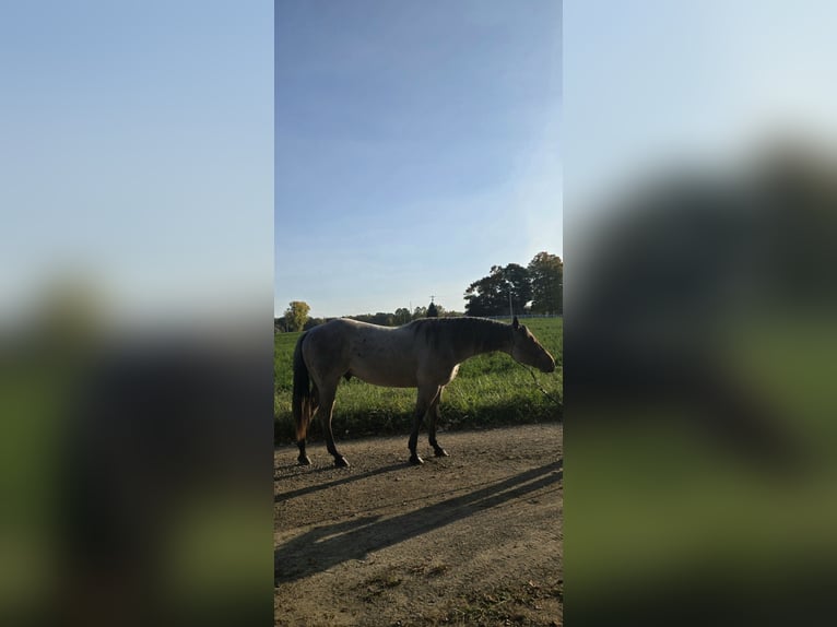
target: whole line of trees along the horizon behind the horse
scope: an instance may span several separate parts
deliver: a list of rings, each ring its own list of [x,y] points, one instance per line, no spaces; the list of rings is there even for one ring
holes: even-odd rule
[[[393,312],[349,316],[354,320],[384,327],[398,327],[427,317],[505,316],[511,312],[557,316],[564,312],[564,262],[557,255],[542,251],[528,265],[509,263],[492,265],[487,276],[471,283],[464,293],[464,312],[448,311],[438,303],[427,307],[406,307]],[[302,300],[288,304],[282,318],[273,321],[275,331],[303,331],[327,322],[328,318],[311,318],[310,307]]]

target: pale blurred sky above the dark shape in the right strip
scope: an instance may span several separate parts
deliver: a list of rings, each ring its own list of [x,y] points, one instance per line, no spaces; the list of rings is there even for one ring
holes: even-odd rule
[[[834,142],[835,23],[828,0],[566,3],[568,233],[583,201],[677,159],[726,167],[780,134]]]

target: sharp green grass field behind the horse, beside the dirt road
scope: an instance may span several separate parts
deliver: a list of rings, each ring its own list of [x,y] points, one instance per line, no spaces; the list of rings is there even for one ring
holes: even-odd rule
[[[524,323],[556,360],[555,372],[544,375],[535,371],[538,383],[549,397],[539,389],[529,371],[505,353],[473,357],[462,364],[457,378],[445,388],[440,428],[474,428],[562,418],[564,320],[531,318]],[[279,333],[274,338],[273,415],[276,442],[294,440],[292,357],[299,335]],[[334,435],[345,439],[409,433],[415,394],[412,388],[379,388],[354,378],[347,382],[341,380],[332,419]],[[318,439],[320,426],[313,424],[309,434],[313,439]]]

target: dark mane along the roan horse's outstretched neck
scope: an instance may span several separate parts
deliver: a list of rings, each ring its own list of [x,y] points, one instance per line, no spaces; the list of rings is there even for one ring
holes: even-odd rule
[[[406,327],[434,348],[451,346],[457,353],[499,351],[509,341],[509,326],[487,318],[422,318]]]

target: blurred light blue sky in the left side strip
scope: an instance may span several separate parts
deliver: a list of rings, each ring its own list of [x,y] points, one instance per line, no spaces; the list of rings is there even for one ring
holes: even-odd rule
[[[95,284],[118,317],[272,308],[273,7],[0,5],[0,306]]]

